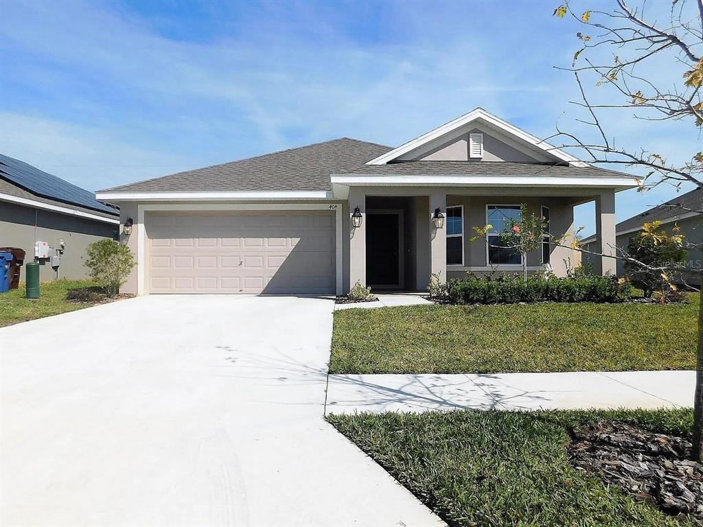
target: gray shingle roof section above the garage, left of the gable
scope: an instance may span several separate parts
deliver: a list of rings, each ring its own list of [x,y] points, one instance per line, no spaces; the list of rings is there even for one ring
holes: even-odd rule
[[[389,146],[343,137],[99,192],[331,190],[330,174],[359,167],[389,150]]]

